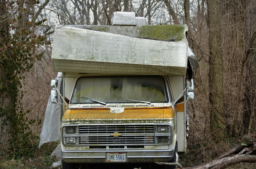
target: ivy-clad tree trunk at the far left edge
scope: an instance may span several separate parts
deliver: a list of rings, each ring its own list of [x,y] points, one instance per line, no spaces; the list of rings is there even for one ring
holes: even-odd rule
[[[8,38],[10,38],[9,34],[9,22],[7,17],[2,17],[6,13],[8,13],[6,8],[7,2],[6,0],[0,0],[0,46],[4,49],[5,46],[8,46]],[[8,48],[5,51],[8,53]],[[8,54],[6,54],[8,55]],[[7,58],[6,58],[7,57]],[[17,96],[13,96],[13,93],[8,88],[10,85],[10,76],[14,74],[14,72],[8,72],[8,65],[12,64],[12,61],[8,58],[8,56],[3,55],[3,51],[0,50],[0,78],[3,84],[0,84],[0,152],[6,152],[10,148],[9,140],[11,138],[11,127],[10,122],[7,117],[8,113],[15,113],[15,98]],[[13,110],[14,109],[14,110]]]

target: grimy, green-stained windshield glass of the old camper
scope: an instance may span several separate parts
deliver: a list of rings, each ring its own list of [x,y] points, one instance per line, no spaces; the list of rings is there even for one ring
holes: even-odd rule
[[[82,98],[83,97],[83,98]],[[71,104],[166,102],[165,81],[161,76],[82,77],[77,80]]]

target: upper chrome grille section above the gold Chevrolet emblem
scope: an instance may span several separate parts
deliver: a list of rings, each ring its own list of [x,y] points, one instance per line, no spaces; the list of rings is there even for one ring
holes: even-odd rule
[[[83,125],[79,126],[79,134],[111,134],[118,133],[154,133],[154,125]]]

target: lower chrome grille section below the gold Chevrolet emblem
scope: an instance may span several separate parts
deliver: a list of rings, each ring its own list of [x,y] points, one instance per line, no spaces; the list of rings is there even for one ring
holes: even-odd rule
[[[153,136],[80,136],[80,144],[154,144]]]

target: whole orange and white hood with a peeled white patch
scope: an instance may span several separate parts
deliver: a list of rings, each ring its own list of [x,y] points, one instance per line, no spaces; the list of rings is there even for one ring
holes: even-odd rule
[[[67,108],[63,123],[163,123],[175,116],[172,106]]]

